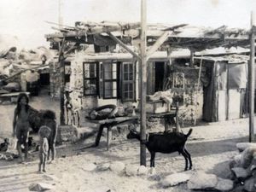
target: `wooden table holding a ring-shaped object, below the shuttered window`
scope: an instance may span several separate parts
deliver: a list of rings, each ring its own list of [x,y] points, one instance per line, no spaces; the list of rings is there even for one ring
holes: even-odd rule
[[[90,123],[95,123],[99,125],[99,131],[96,136],[95,147],[97,147],[100,143],[102,137],[102,131],[104,128],[107,128],[107,150],[111,143],[112,139],[112,128],[116,125],[130,125],[130,124],[137,124],[138,116],[131,116],[131,117],[116,117],[113,119],[102,119],[102,120],[91,120],[89,119]]]

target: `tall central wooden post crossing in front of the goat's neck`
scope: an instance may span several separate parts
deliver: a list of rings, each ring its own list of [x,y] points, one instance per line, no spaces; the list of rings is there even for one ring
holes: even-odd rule
[[[140,104],[141,104],[141,165],[146,166],[146,95],[147,95],[147,3],[141,1],[141,62],[140,62]]]

